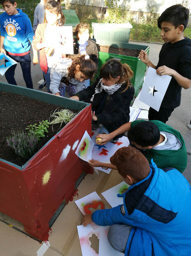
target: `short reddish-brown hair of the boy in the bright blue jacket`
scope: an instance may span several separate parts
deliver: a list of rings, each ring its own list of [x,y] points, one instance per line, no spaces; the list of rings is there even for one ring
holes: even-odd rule
[[[110,162],[117,167],[122,177],[129,175],[136,182],[145,179],[150,172],[147,158],[137,148],[131,146],[119,148],[110,158]]]

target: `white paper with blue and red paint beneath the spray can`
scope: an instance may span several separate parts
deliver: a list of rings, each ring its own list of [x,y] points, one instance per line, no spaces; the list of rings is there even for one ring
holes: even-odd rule
[[[110,163],[109,159],[114,153],[121,147],[128,146],[129,141],[128,138],[123,136],[119,138],[119,141],[116,143],[107,142],[107,144],[100,146],[95,143],[95,137],[99,134],[100,129],[96,129],[92,131],[92,140],[94,142],[93,151],[92,151],[92,159],[98,160],[102,163]],[[90,159],[90,158],[89,158]],[[102,172],[106,172],[109,174],[111,169],[103,168],[103,167],[96,167],[98,170]]]

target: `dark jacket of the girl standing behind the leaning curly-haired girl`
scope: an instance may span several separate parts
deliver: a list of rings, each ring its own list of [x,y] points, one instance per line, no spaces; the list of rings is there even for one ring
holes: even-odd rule
[[[86,46],[86,53],[90,56],[90,59],[93,60],[93,62],[95,62],[96,67],[98,67],[98,62],[99,62],[98,48],[96,46],[96,43],[91,39],[88,39],[88,45]],[[74,40],[74,54],[80,54],[79,43],[77,38],[75,38]]]

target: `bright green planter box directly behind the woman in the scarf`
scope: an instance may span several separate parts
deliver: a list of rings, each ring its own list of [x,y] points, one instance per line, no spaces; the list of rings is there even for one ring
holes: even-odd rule
[[[148,45],[137,45],[132,43],[121,43],[121,42],[111,42],[95,39],[98,45],[109,45],[115,48],[126,48],[126,49],[136,49],[145,50],[149,54],[150,46]],[[138,57],[131,57],[126,55],[114,54],[114,53],[103,53],[99,52],[99,64],[98,64],[98,74],[95,78],[99,76],[99,70],[102,65],[110,59],[120,60],[122,63],[127,63],[133,70],[133,78],[131,83],[135,87],[135,96],[137,96],[139,89],[141,88],[144,81],[144,73],[146,71],[146,64],[144,64]]]

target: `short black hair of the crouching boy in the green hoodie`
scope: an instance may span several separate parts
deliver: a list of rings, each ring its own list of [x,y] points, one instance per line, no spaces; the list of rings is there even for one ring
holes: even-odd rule
[[[129,141],[133,141],[139,146],[147,147],[158,143],[160,132],[153,122],[142,121],[130,128],[127,136]]]

